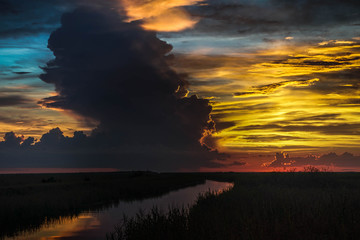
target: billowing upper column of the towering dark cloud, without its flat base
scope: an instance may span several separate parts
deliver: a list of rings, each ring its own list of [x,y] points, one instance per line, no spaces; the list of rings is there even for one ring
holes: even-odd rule
[[[196,96],[182,98],[188,83],[166,62],[171,45],[103,11],[63,16],[49,39],[56,58],[40,76],[58,96],[42,103],[97,120],[98,131],[119,131],[126,142],[186,145],[200,139],[212,128],[211,107]]]

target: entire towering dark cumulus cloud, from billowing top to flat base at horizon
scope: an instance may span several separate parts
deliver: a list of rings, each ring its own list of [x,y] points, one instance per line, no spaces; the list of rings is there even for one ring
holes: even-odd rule
[[[186,97],[187,81],[167,63],[171,45],[140,23],[123,20],[104,9],[63,15],[48,43],[55,59],[40,76],[55,85],[57,95],[40,103],[99,125],[89,137],[77,132],[66,138],[54,129],[34,148],[55,145],[63,155],[76,152],[77,167],[214,166],[218,153],[200,144],[214,128],[208,100]]]

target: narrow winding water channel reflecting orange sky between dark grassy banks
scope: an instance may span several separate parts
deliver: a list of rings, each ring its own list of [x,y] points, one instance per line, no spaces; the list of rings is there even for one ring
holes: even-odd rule
[[[200,193],[205,193],[209,190],[221,193],[223,190],[231,188],[232,186],[232,183],[207,180],[205,184],[173,191],[162,197],[150,198],[142,201],[119,202],[118,205],[108,209],[83,212],[78,217],[60,218],[56,223],[46,224],[34,233],[25,233],[15,238],[6,239],[105,239],[106,233],[114,230],[114,225],[119,223],[119,220],[124,214],[127,216],[134,216],[139,212],[139,209],[146,211],[153,206],[157,206],[163,211],[166,211],[169,206],[189,206],[195,203]]]

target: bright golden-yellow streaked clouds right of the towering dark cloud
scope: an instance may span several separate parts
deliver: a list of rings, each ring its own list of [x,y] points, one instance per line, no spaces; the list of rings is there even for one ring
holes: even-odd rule
[[[175,67],[190,74],[192,92],[212,97],[217,122],[233,123],[213,134],[220,150],[359,153],[359,85],[337,77],[360,67],[355,40],[179,56]],[[327,87],[329,93],[320,91]]]

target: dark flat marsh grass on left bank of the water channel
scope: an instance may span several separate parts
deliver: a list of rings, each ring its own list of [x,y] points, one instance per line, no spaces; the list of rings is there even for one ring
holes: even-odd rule
[[[186,173],[0,175],[0,239],[119,200],[161,196],[204,182],[204,175]]]

